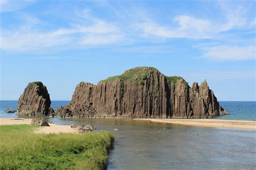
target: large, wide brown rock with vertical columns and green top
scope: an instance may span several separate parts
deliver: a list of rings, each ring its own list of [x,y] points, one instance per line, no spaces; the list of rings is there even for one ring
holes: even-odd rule
[[[206,81],[198,86],[156,68],[136,67],[97,85],[81,82],[61,117],[211,118],[226,115]]]

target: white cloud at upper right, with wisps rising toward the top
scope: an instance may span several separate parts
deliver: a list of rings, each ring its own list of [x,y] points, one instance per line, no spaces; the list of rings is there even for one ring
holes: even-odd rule
[[[231,30],[255,30],[255,16],[253,19],[249,19],[246,6],[234,5],[230,8],[229,4],[224,5],[221,2],[220,4],[223,17],[218,20],[179,15],[172,18],[177,26],[172,25],[171,22],[161,25],[154,22],[153,19],[147,19],[145,22],[138,22],[136,27],[143,37],[164,39],[224,39],[223,33]]]

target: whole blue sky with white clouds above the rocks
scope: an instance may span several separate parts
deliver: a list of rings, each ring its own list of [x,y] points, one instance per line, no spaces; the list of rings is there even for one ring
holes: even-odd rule
[[[0,0],[0,100],[42,81],[51,100],[137,66],[255,101],[256,1]]]

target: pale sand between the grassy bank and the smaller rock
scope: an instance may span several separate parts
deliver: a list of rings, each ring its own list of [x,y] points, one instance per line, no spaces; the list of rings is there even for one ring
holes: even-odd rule
[[[17,125],[17,124],[30,124],[32,119],[27,118],[0,118],[0,125]],[[35,133],[78,133],[76,129],[71,128],[69,125],[56,125],[49,124],[50,126],[41,126]]]

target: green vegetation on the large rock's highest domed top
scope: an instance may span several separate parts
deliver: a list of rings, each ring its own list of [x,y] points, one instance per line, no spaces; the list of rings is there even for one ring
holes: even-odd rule
[[[126,70],[122,75],[117,75],[113,77],[109,77],[105,80],[100,81],[99,83],[108,83],[112,82],[116,79],[121,79],[122,81],[128,81],[128,80],[145,80],[146,75],[148,75],[151,72],[159,72],[154,67],[135,67],[129,70]]]

